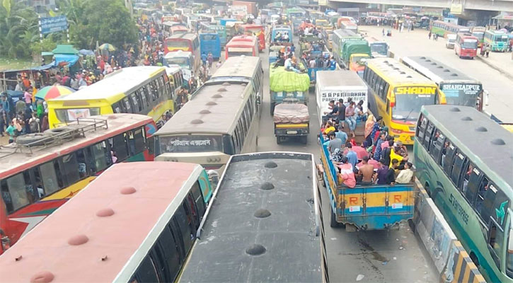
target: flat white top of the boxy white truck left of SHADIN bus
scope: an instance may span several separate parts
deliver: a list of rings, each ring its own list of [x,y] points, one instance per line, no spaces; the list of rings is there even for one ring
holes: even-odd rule
[[[344,88],[354,88],[355,86],[359,86],[358,89],[367,88],[367,84],[355,71],[317,71],[316,76],[317,83],[321,88],[340,88],[340,86]]]

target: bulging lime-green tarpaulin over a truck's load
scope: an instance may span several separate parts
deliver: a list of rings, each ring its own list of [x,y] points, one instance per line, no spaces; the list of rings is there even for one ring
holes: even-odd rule
[[[308,91],[310,77],[306,73],[285,71],[284,67],[270,67],[269,87],[271,91]]]

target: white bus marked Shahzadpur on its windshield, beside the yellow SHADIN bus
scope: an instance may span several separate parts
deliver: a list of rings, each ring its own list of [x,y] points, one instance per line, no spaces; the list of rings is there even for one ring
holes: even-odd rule
[[[403,57],[401,62],[437,83],[439,90],[444,93],[447,104],[483,110],[483,84],[480,81],[431,57]]]

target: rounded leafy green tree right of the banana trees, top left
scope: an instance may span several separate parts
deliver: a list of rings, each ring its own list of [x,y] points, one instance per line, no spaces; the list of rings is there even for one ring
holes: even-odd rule
[[[137,43],[137,28],[123,0],[66,1],[84,1],[83,13],[70,28],[76,46],[93,49],[97,40],[116,47]]]

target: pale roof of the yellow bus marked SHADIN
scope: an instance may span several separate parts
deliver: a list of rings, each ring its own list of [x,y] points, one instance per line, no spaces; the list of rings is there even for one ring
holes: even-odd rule
[[[434,85],[434,82],[430,79],[393,58],[368,59],[366,64],[367,67],[384,76],[384,79],[390,84],[414,83],[415,85]]]

